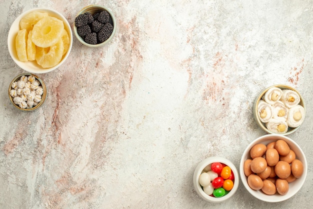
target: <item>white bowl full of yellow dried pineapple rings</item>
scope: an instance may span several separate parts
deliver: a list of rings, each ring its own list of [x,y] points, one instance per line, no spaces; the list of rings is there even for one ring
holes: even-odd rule
[[[50,8],[21,13],[7,35],[10,56],[30,73],[46,73],[59,67],[68,57],[72,41],[67,19]]]

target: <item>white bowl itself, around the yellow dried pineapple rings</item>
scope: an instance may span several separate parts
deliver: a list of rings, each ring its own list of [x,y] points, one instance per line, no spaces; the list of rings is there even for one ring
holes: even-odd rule
[[[43,68],[40,65],[38,65],[36,63],[36,61],[20,61],[17,57],[16,49],[15,49],[15,37],[16,37],[16,34],[19,30],[19,21],[23,16],[25,16],[26,14],[29,14],[32,11],[47,12],[50,16],[53,16],[53,17],[56,17],[56,18],[62,20],[64,23],[64,28],[66,29],[66,31],[69,35],[68,50],[62,56],[61,61],[53,67]],[[29,10],[21,13],[13,21],[13,23],[12,23],[12,25],[8,31],[8,35],[7,35],[7,47],[8,47],[8,51],[9,51],[9,54],[11,55],[12,59],[20,68],[22,68],[23,70],[28,71],[30,73],[46,73],[46,72],[50,72],[50,71],[56,69],[57,67],[59,67],[68,57],[69,52],[70,52],[71,47],[72,47],[72,43],[73,43],[72,31],[71,31],[71,28],[70,28],[68,21],[66,20],[66,18],[61,13],[59,13],[56,10],[50,9],[50,8],[32,8],[32,9],[29,9]]]

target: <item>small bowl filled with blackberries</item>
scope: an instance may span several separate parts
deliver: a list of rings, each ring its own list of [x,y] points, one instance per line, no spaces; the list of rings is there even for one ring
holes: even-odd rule
[[[108,8],[92,4],[77,13],[73,27],[76,38],[82,44],[88,47],[100,47],[114,36],[116,21]]]

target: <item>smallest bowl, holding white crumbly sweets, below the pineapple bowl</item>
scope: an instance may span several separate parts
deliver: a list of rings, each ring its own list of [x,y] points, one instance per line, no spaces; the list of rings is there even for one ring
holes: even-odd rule
[[[31,111],[43,104],[46,86],[37,75],[22,73],[11,81],[8,96],[17,109]]]

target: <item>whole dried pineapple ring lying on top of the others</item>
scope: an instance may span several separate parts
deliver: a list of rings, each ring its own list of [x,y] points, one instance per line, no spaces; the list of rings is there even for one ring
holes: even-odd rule
[[[56,17],[45,16],[32,28],[32,42],[39,47],[48,47],[56,44],[62,36],[64,24]]]

